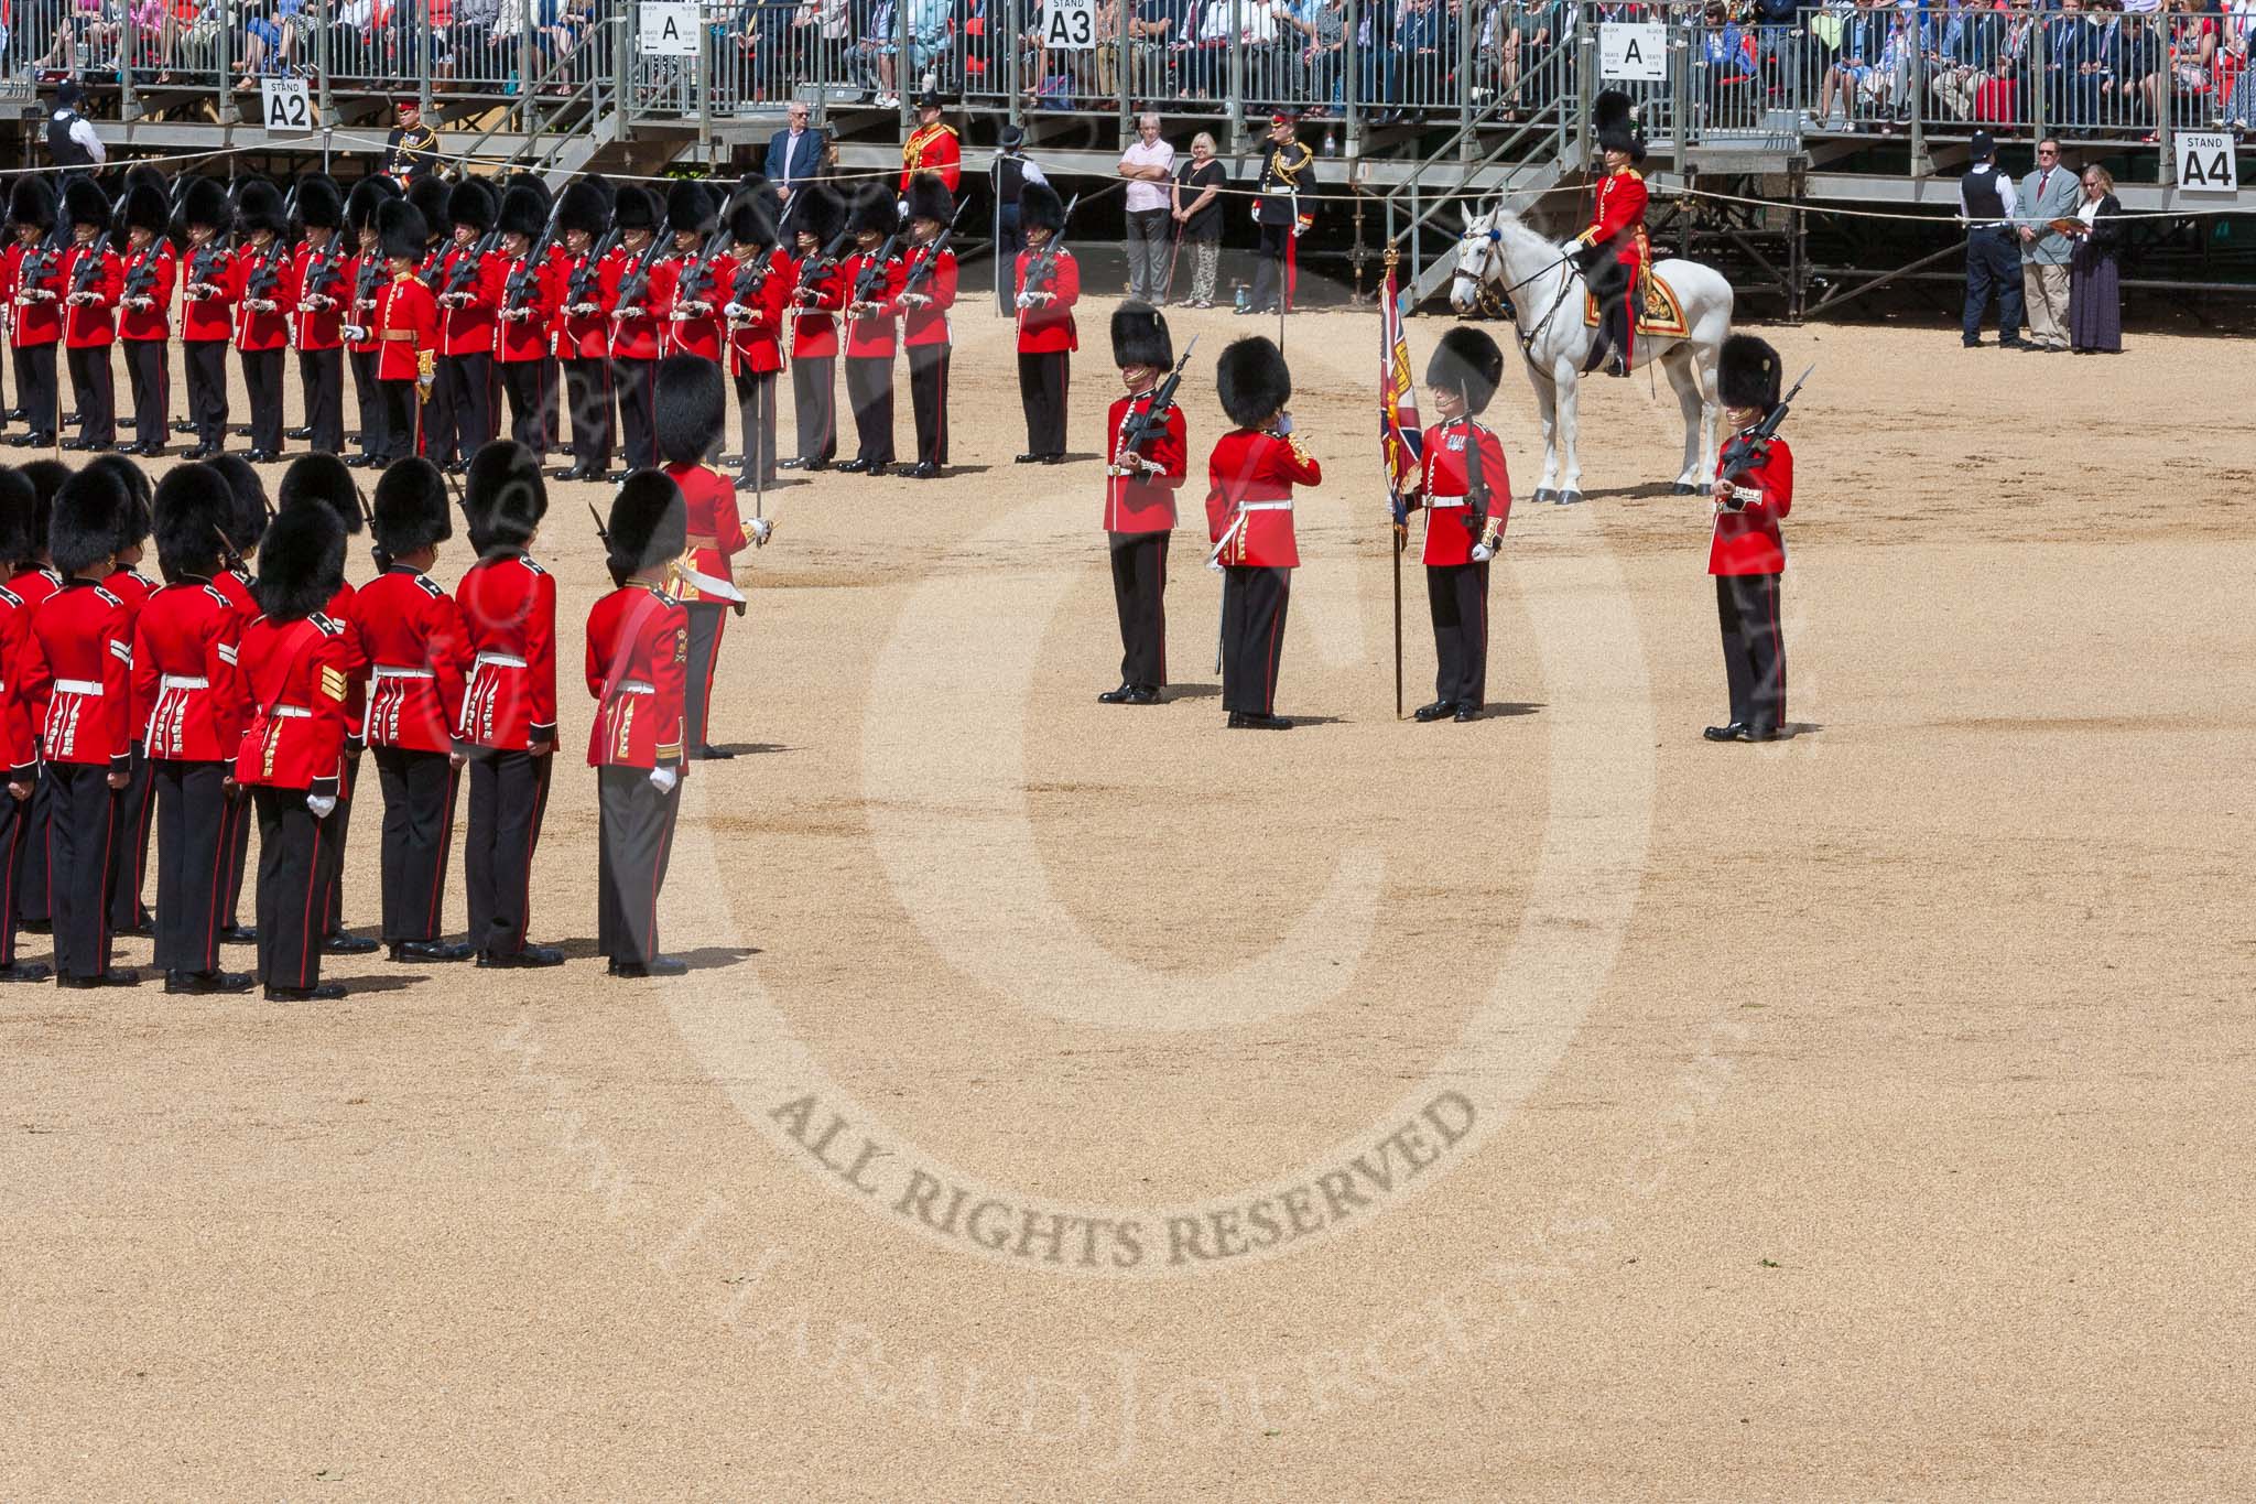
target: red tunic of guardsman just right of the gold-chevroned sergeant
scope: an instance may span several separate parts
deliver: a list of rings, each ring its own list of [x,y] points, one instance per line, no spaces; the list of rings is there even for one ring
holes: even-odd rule
[[[368,656],[368,744],[453,751],[469,667],[469,631],[453,595],[395,564],[363,584],[352,607]]]

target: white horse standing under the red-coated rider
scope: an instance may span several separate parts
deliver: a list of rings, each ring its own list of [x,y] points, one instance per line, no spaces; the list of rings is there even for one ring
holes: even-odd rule
[[[1455,280],[1448,304],[1457,313],[1478,307],[1482,286],[1498,286],[1512,298],[1518,322],[1521,354],[1527,359],[1527,381],[1536,388],[1536,410],[1543,419],[1543,483],[1539,503],[1581,501],[1581,460],[1575,455],[1575,399],[1597,329],[1584,322],[1586,284],[1561,248],[1530,230],[1498,205],[1464,225],[1457,241]],[[1706,492],[1715,476],[1715,444],[1721,404],[1715,388],[1715,363],[1730,334],[1730,282],[1699,262],[1667,259],[1654,264],[1683,304],[1687,336],[1636,338],[1636,365],[1660,361],[1685,413],[1685,467],[1676,476],[1678,494]]]

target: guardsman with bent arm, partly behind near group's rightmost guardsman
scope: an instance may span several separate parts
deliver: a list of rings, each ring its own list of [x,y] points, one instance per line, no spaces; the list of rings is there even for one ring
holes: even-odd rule
[[[720,663],[726,613],[744,613],[731,559],[744,548],[765,546],[769,534],[765,519],[744,525],[735,510],[735,485],[711,467],[726,433],[726,408],[717,365],[697,356],[666,356],[659,363],[659,455],[666,460],[666,476],[681,487],[693,550],[672,580],[672,593],[690,620],[684,701],[690,758],[733,755],[708,737],[713,667]]]

